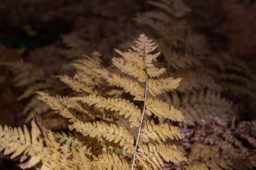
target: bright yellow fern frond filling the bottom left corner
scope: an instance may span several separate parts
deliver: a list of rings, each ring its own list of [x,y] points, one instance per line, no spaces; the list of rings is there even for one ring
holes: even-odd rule
[[[11,155],[11,159],[19,156],[20,162],[23,163],[20,168],[27,169],[41,162],[41,170],[74,170],[79,169],[81,160],[77,161],[72,156],[72,151],[69,146],[60,146],[52,135],[50,130],[43,130],[41,135],[39,128],[34,121],[31,122],[31,136],[26,126],[24,132],[20,127],[11,128],[8,126],[0,126],[0,151],[4,150],[4,155]],[[45,146],[46,145],[46,146]],[[87,168],[90,168],[90,160],[84,159],[83,163],[87,162]]]

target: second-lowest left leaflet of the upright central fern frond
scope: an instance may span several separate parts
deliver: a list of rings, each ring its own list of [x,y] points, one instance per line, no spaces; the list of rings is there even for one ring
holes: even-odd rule
[[[90,137],[104,137],[108,141],[114,141],[127,150],[128,153],[134,153],[135,147],[134,137],[130,131],[123,128],[122,126],[117,127],[115,124],[110,126],[104,122],[97,121],[96,123],[90,122],[83,123],[82,121],[75,121],[72,125],[69,125],[70,130],[76,129],[76,132],[80,132],[83,136],[90,135]]]

